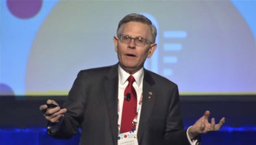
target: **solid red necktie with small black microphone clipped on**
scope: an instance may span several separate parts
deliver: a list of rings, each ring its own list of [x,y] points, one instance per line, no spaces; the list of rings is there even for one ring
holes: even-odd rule
[[[132,86],[135,78],[133,76],[129,76],[127,80],[128,86],[124,90],[124,96],[126,96],[126,99],[124,99],[123,104],[120,133],[132,131],[132,121],[137,114],[137,94],[134,87]],[[129,97],[129,95],[127,95],[127,93],[130,93],[129,101],[129,98],[127,98],[127,96]]]

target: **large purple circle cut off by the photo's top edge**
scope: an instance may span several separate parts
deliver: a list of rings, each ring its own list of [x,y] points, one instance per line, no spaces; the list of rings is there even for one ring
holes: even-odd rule
[[[20,19],[34,17],[41,9],[43,0],[7,0],[9,11]]]

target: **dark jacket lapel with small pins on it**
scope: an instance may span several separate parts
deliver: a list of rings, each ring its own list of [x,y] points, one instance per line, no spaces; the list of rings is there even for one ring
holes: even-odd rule
[[[153,108],[156,91],[154,90],[154,80],[151,77],[149,71],[144,69],[144,78],[143,78],[143,98],[142,98],[142,106],[141,106],[141,116],[139,120],[139,128],[138,128],[138,143],[140,144],[141,138],[143,136],[144,130],[148,124],[148,119],[150,117],[151,110]]]

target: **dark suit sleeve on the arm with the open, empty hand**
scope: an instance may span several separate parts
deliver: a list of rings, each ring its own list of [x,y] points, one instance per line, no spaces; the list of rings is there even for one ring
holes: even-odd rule
[[[180,113],[180,100],[177,85],[168,93],[171,95],[171,102],[167,112],[165,129],[165,145],[190,145],[187,138],[187,130],[183,129]]]

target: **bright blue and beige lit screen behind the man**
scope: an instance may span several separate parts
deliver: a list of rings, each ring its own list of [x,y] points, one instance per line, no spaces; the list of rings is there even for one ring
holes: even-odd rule
[[[145,63],[181,94],[256,94],[255,0],[1,0],[0,94],[66,95],[78,71],[117,63],[129,13],[158,30]]]

